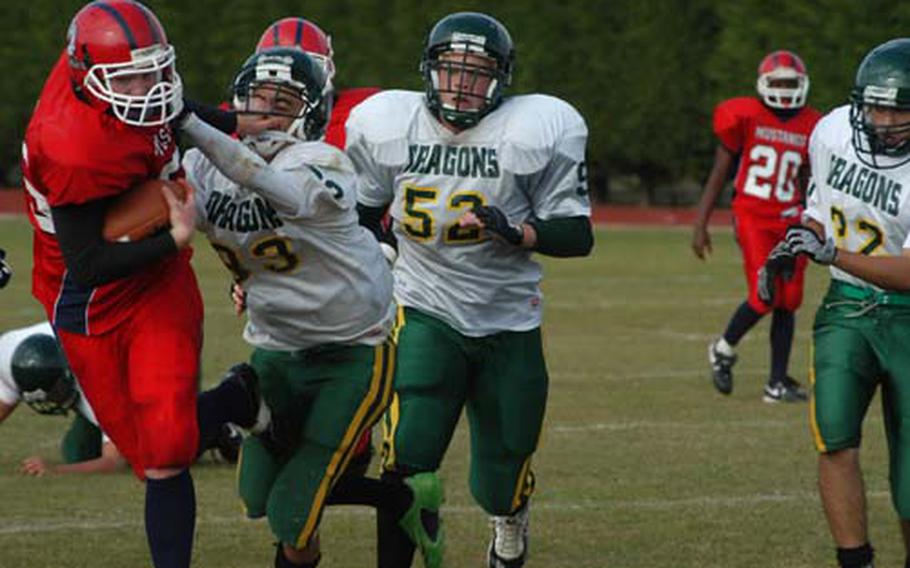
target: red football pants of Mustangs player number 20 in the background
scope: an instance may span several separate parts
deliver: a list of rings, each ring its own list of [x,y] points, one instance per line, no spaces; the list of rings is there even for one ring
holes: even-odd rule
[[[802,256],[796,260],[793,278],[787,281],[778,277],[773,305],[769,306],[758,298],[758,270],[767,260],[771,249],[783,240],[790,224],[790,221],[784,222],[779,219],[736,216],[736,241],[743,254],[743,269],[746,273],[746,285],[749,287],[748,302],[749,306],[760,314],[777,308],[795,312],[803,303],[806,259]]]

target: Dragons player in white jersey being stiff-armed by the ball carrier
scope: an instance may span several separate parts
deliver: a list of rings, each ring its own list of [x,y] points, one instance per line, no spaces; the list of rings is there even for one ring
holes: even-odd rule
[[[234,140],[189,114],[179,128],[199,229],[245,292],[244,338],[271,409],[268,431],[244,441],[239,490],[251,518],[267,516],[276,567],[315,567],[317,528],[364,431],[391,400],[395,304],[379,244],[360,226],[359,180],[320,141],[326,77],[299,49],[258,51],[234,82],[239,113],[274,129]],[[365,483],[366,478],[344,479]],[[362,491],[396,518],[438,508],[418,483]],[[343,502],[352,502],[350,498]]]

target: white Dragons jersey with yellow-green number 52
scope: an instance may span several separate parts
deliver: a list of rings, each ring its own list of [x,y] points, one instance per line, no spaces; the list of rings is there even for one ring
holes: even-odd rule
[[[422,93],[384,91],[358,105],[346,151],[363,182],[358,201],[390,205],[398,302],[471,337],[538,327],[541,270],[531,252],[457,220],[479,205],[514,224],[590,216],[587,136],[581,115],[546,95],[507,98],[460,133]]]

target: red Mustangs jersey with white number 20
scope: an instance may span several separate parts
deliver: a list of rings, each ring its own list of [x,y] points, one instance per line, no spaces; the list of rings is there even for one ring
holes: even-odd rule
[[[717,105],[714,133],[724,147],[740,155],[733,197],[737,215],[799,219],[799,172],[809,165],[809,135],[821,116],[807,106],[781,120],[755,97]]]

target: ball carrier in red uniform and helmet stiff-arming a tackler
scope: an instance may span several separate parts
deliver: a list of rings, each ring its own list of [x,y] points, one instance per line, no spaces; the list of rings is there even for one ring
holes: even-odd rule
[[[102,237],[113,198],[182,175],[168,124],[183,108],[182,85],[164,28],[138,2],[99,0],[76,14],[67,40],[23,144],[32,292],[101,428],[146,480],[155,567],[188,568],[196,505],[187,467],[226,416],[252,426],[259,397],[254,383],[232,381],[197,412],[192,193],[180,201],[165,192],[167,230],[132,243]]]

